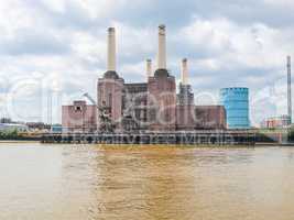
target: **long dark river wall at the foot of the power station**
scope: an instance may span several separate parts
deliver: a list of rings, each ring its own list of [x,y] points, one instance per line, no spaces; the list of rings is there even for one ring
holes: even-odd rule
[[[195,131],[175,133],[46,133],[42,143],[76,144],[193,144],[254,145],[255,133],[249,131]]]

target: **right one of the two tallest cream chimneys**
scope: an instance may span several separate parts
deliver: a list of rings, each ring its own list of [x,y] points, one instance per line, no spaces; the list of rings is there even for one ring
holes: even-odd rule
[[[165,25],[159,26],[159,54],[157,54],[159,69],[166,69],[166,35]]]

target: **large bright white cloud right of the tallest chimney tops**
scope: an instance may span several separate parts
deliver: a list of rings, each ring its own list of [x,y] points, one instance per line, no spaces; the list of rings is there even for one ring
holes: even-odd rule
[[[281,59],[294,51],[294,44],[287,41],[293,33],[287,30],[261,23],[239,25],[224,18],[196,19],[177,36],[182,36],[196,52],[207,54],[208,67],[274,68],[280,67]]]

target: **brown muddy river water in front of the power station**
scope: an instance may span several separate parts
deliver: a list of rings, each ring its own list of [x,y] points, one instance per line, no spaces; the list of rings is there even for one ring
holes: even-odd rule
[[[2,220],[293,220],[294,147],[0,144]]]

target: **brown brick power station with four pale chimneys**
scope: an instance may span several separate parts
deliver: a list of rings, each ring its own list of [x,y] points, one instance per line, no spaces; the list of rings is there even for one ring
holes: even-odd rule
[[[63,107],[63,127],[67,131],[80,130],[83,125],[86,127],[83,131],[99,132],[168,132],[227,128],[224,106],[195,106],[194,94],[188,84],[186,58],[182,61],[181,82],[176,94],[175,77],[166,67],[164,25],[159,26],[157,67],[154,73],[152,61],[146,61],[146,81],[126,82],[117,73],[116,51],[116,30],[110,28],[107,72],[97,82],[97,106],[88,108],[85,102],[74,102]],[[74,122],[70,122],[70,118],[75,119]]]

